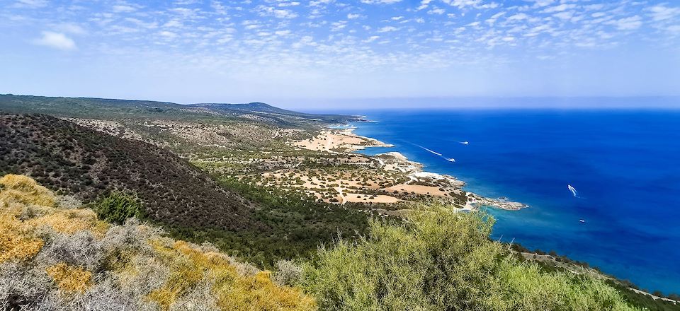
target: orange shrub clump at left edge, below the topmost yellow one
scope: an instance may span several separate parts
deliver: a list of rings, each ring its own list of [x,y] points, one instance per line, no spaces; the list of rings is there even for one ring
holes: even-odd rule
[[[42,239],[31,237],[26,226],[12,215],[0,215],[0,263],[31,259],[44,244]]]

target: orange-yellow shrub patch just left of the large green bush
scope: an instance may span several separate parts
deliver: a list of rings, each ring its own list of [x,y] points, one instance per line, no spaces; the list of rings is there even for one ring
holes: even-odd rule
[[[268,271],[241,276],[223,254],[200,252],[183,241],[172,247],[152,244],[164,259],[171,260],[166,284],[149,295],[164,310],[203,278],[213,284],[212,293],[222,310],[316,310],[312,298],[296,288],[277,286]]]

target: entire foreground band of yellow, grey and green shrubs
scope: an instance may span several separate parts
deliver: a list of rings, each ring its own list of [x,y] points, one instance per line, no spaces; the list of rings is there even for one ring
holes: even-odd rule
[[[121,200],[128,204],[121,204]],[[29,177],[0,179],[0,303],[19,310],[640,310],[589,274],[545,271],[489,240],[493,219],[421,206],[356,240],[261,271],[208,243],[172,240]],[[115,209],[115,208],[114,208]],[[98,216],[99,213],[99,216]],[[125,213],[123,213],[125,215]],[[106,217],[101,217],[106,218]]]

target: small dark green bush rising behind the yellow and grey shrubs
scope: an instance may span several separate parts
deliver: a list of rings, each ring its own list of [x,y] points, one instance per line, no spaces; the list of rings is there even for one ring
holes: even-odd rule
[[[98,201],[94,211],[99,219],[117,225],[123,225],[128,218],[145,216],[142,201],[136,195],[118,190]]]

